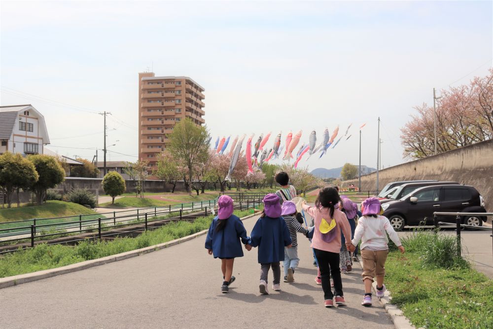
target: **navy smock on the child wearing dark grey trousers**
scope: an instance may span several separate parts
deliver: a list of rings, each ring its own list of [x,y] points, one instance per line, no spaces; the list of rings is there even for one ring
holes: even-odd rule
[[[258,246],[258,262],[261,264],[284,260],[284,247],[291,244],[286,222],[282,217],[259,218],[253,226],[248,244]]]

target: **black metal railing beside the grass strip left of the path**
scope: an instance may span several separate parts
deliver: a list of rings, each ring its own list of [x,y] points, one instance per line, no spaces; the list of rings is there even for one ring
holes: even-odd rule
[[[21,234],[12,234],[8,239],[0,241],[0,254],[14,252],[20,249],[33,248],[36,244],[74,244],[87,239],[114,238],[115,236],[133,236],[149,229],[160,227],[171,221],[187,220],[193,221],[197,217],[208,216],[216,204],[215,200],[210,205],[202,203],[196,207],[185,207],[180,209],[160,209],[154,207],[153,212],[143,214],[129,214],[113,216],[112,218],[79,219],[65,222],[67,226],[60,227],[59,223],[31,224],[17,229],[23,230]],[[234,208],[246,210],[258,207],[261,198],[246,199],[235,202]],[[193,209],[192,209],[193,208]],[[116,213],[115,213],[116,215]],[[124,230],[119,228],[126,227]],[[11,228],[0,229],[0,233],[11,230]],[[24,232],[28,231],[28,234]],[[105,233],[106,232],[106,233]]]

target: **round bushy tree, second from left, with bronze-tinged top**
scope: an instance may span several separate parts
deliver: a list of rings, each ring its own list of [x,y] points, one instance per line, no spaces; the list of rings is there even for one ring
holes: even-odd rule
[[[34,154],[27,157],[31,161],[39,175],[39,179],[31,186],[31,190],[36,195],[38,205],[45,200],[46,190],[53,188],[65,180],[65,170],[60,163],[52,156]]]

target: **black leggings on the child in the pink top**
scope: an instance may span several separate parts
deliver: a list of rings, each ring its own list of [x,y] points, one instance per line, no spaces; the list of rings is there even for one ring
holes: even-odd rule
[[[334,295],[343,296],[339,253],[326,252],[315,248],[314,250],[315,256],[317,256],[318,268],[320,269],[323,298],[326,300],[334,298]],[[332,274],[332,280],[334,281],[334,293],[330,288],[330,274]]]

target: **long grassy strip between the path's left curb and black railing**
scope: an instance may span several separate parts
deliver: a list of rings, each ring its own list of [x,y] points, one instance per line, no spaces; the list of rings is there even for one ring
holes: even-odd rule
[[[240,218],[251,213],[251,209],[234,212]],[[117,238],[108,242],[83,241],[73,247],[41,244],[32,249],[0,256],[0,277],[66,266],[168,242],[208,229],[212,218],[213,216],[207,216],[193,222],[179,221],[166,224],[155,230],[144,232],[136,238]]]

